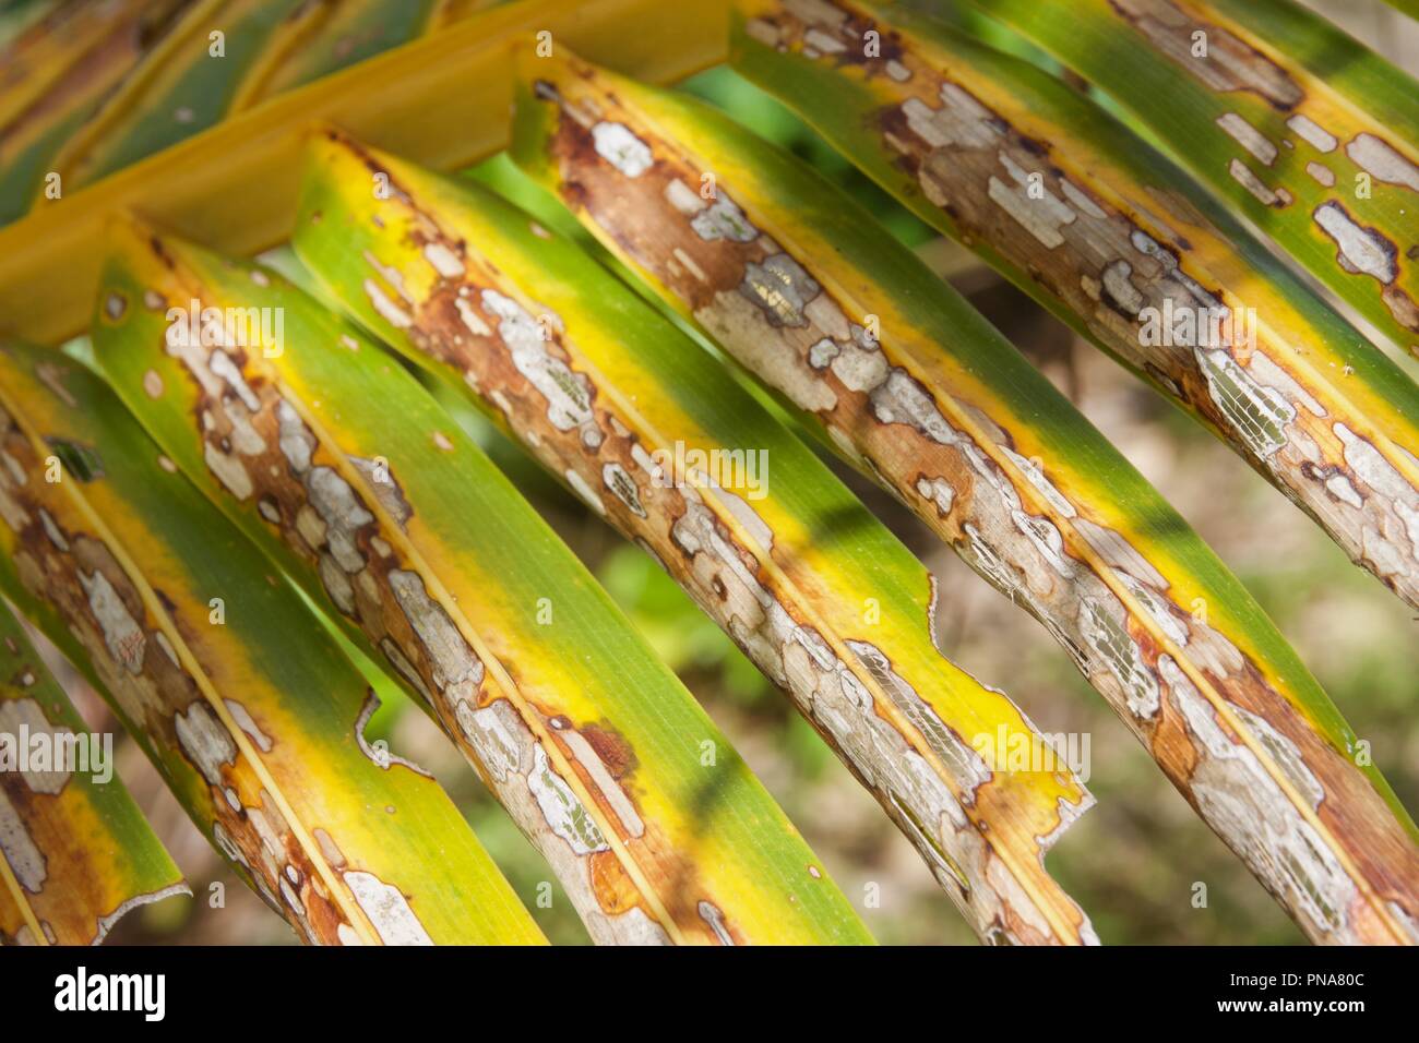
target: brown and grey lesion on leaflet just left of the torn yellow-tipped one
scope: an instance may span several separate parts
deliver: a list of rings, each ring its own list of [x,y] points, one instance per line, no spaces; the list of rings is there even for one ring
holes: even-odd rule
[[[447,267],[447,257],[436,255],[431,263]],[[490,321],[495,318],[490,314]],[[630,795],[633,754],[619,749],[619,771],[597,773],[587,758],[576,758],[578,741],[587,752],[596,749],[580,729],[563,718],[566,734],[558,734],[529,692],[522,692],[525,708],[512,710],[502,685],[488,678],[487,666],[430,595],[406,551],[402,529],[414,508],[404,497],[397,464],[333,456],[272,375],[240,348],[217,345],[210,353],[189,352],[183,362],[197,396],[192,412],[194,434],[204,446],[216,484],[280,535],[315,572],[335,609],[429,704],[519,827],[558,868],[593,938],[668,941],[644,898],[640,912],[629,918],[607,912],[607,907],[623,903],[595,887],[599,877],[587,857],[604,850],[599,827],[590,824],[580,798],[566,785],[566,768],[546,756],[546,741],[538,734],[552,736],[562,763],[576,772],[599,813],[623,824],[617,832],[622,843],[644,837],[644,846],[653,849],[658,841],[640,823]],[[214,458],[220,460],[217,467],[211,465]],[[531,728],[522,714],[535,714],[538,728]],[[590,725],[589,735],[603,749],[616,749],[607,729]],[[627,822],[633,826],[624,827]]]

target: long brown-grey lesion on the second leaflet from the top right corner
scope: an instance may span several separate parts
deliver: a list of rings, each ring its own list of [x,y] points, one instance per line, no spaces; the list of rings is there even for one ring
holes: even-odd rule
[[[806,28],[786,13],[775,20],[783,47],[802,48]],[[968,79],[954,81],[911,51],[900,60],[912,77],[897,88],[901,101],[876,115],[883,143],[925,199],[951,217],[959,238],[1000,251],[1078,315],[1110,352],[1225,431],[1352,559],[1419,606],[1419,546],[1399,521],[1419,507],[1419,490],[1401,477],[1403,465],[1395,460],[1398,484],[1361,490],[1358,502],[1337,501],[1332,490],[1307,477],[1305,461],[1341,463],[1331,423],[1352,410],[1294,366],[1293,349],[1264,328],[1252,336],[1226,326],[1218,335],[1199,332],[1212,314],[1235,322],[1244,315],[1244,301],[1193,274],[1191,245],[1168,224],[1176,206],[1158,193],[1138,199],[1132,186],[1066,172],[1064,163],[1050,162],[1050,146],[1027,140],[1007,114],[971,92]],[[1162,217],[1154,204],[1162,206]],[[1338,204],[1327,203],[1317,214],[1349,244],[1355,270],[1395,278],[1398,263],[1385,243],[1369,238]],[[1196,214],[1178,220],[1205,227]],[[1389,291],[1396,316],[1408,315],[1408,297]],[[1191,332],[1169,316],[1192,316]],[[1393,450],[1376,451],[1388,457]]]

